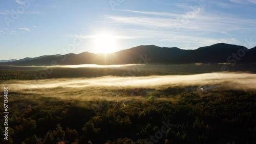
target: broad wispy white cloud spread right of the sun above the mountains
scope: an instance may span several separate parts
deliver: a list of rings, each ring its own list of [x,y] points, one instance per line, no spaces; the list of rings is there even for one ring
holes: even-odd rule
[[[122,11],[136,14],[133,16],[105,15],[104,20],[115,23],[114,25],[131,27],[132,29],[129,30],[120,29],[126,36],[151,40],[151,43],[154,41],[154,43],[170,43],[172,46],[182,45],[181,49],[196,49],[198,46],[219,42],[243,44],[243,41],[232,34],[238,31],[256,31],[254,27],[256,20],[231,14],[202,11],[182,23],[181,18],[186,15],[179,12]],[[182,24],[179,31],[177,23]]]

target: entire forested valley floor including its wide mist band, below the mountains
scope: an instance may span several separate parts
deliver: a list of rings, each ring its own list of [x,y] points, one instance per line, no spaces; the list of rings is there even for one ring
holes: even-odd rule
[[[2,67],[0,143],[256,143],[256,74],[131,69]]]

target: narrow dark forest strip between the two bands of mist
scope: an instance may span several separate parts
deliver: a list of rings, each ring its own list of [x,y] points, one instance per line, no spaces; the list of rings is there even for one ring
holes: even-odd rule
[[[128,71],[128,72],[127,72]],[[170,72],[169,72],[170,73]],[[125,74],[125,75],[124,75]],[[92,78],[102,76],[150,76],[150,75],[166,75],[167,72],[159,71],[140,71],[134,73],[131,69],[118,68],[31,68],[31,69],[1,69],[0,81],[4,80],[39,80],[52,78]],[[178,74],[173,72],[172,74]],[[179,73],[182,74],[182,73]]]

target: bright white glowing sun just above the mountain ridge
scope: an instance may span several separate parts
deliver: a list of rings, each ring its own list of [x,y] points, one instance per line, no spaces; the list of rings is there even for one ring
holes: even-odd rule
[[[94,37],[96,53],[113,53],[116,50],[116,37],[112,34],[102,33]]]

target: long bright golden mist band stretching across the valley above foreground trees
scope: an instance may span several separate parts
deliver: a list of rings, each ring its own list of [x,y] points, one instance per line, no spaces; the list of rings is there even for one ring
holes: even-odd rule
[[[248,73],[207,73],[197,75],[168,75],[146,77],[114,77],[45,80],[10,80],[1,86],[11,90],[36,88],[82,88],[82,87],[118,87],[118,88],[163,88],[172,86],[222,85],[229,88],[256,88],[256,74]]]

